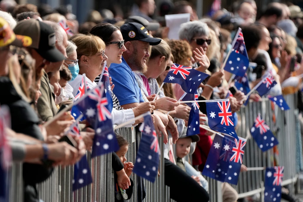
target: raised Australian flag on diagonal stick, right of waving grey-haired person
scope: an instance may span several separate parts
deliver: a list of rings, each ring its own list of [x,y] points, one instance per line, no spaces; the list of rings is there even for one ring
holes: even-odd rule
[[[238,36],[234,39],[235,45],[226,60],[224,70],[243,77],[248,69],[249,60],[241,28],[237,33]]]

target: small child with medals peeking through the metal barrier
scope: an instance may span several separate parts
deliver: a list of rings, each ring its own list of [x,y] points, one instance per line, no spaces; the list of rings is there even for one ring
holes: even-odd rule
[[[133,170],[133,167],[134,167],[132,162],[126,162],[127,159],[125,157],[125,154],[128,150],[129,143],[120,134],[115,132],[115,135],[116,135],[116,138],[117,138],[120,149],[118,151],[116,151],[115,154],[114,153],[112,154],[113,155],[112,166],[114,167],[114,164],[121,164],[121,162],[122,162],[123,165],[124,165],[125,174],[129,178],[129,176],[132,174],[132,170]],[[119,161],[121,161],[121,162],[119,162]],[[132,179],[129,178],[129,180],[131,181],[131,185],[128,187],[128,189],[125,189],[125,190],[123,190],[122,188],[120,188],[118,186],[118,180],[117,179],[118,179],[118,176],[115,172],[115,184],[114,184],[115,185],[115,202],[116,201],[129,200],[132,197],[133,186],[134,186],[134,183],[133,183]]]

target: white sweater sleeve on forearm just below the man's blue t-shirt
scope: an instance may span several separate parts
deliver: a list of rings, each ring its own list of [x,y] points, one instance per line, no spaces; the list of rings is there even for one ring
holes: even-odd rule
[[[115,108],[113,108],[112,110],[113,125],[114,124],[119,125],[134,118],[135,118],[135,114],[132,109],[116,110]],[[135,121],[133,121],[132,123],[130,123],[125,127],[132,127],[133,124],[135,124]]]

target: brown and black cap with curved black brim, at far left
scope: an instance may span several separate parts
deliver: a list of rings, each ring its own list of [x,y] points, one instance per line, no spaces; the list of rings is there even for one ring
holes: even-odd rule
[[[55,31],[50,25],[36,19],[23,20],[16,25],[14,32],[15,34],[31,37],[32,44],[28,47],[35,48],[42,58],[50,62],[65,59],[64,55],[55,46]]]

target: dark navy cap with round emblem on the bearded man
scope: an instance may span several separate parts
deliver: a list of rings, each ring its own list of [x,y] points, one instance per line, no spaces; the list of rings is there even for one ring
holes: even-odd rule
[[[137,23],[137,22],[130,22],[121,26],[121,33],[123,39],[125,41],[144,41],[148,42],[149,45],[158,45],[161,42],[161,38],[152,38],[149,34],[147,29]]]

